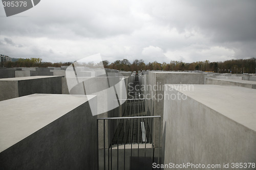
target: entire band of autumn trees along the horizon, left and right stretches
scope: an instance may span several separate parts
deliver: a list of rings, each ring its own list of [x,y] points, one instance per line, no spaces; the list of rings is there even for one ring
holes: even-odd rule
[[[143,60],[134,60],[132,63],[127,60],[116,60],[110,63],[108,60],[103,62],[104,68],[118,69],[124,71],[138,70],[201,70],[213,72],[231,72],[231,73],[255,73],[256,59],[237,59],[227,60],[224,62],[197,61],[193,63],[185,63],[182,61],[170,61],[169,63],[159,63],[157,61],[145,63]],[[4,62],[4,67],[60,67],[61,65],[71,65],[72,62],[42,62],[40,58],[18,59],[15,62]]]

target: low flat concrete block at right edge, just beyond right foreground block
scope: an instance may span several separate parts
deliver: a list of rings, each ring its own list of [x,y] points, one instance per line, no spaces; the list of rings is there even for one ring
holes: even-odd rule
[[[205,84],[213,85],[232,85],[256,89],[255,81],[231,80],[231,79],[206,79]]]

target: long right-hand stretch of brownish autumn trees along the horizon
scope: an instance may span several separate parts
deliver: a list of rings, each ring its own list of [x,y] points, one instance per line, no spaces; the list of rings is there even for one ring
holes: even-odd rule
[[[134,60],[132,63],[127,59],[116,60],[110,63],[108,60],[103,61],[105,68],[112,68],[125,71],[138,70],[201,70],[212,72],[231,72],[231,73],[255,73],[256,59],[237,59],[227,60],[224,62],[197,61],[193,63],[185,63],[182,61],[170,61],[169,63],[159,63],[157,61],[145,63],[143,60]]]

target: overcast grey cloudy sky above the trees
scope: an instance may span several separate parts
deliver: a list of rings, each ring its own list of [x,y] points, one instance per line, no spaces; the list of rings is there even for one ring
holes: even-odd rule
[[[6,17],[0,54],[67,62],[225,61],[256,57],[256,1],[52,1]]]

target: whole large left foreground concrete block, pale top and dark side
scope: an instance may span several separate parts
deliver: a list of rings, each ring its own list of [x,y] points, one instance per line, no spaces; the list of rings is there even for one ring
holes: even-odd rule
[[[0,102],[1,169],[96,169],[90,100],[97,102],[93,95],[32,94]]]

